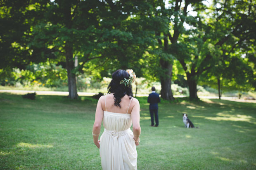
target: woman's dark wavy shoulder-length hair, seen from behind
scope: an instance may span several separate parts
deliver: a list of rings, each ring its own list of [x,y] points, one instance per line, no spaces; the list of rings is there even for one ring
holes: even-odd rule
[[[116,70],[112,74],[112,80],[107,87],[108,93],[114,94],[115,106],[119,106],[121,108],[120,102],[121,98],[126,94],[130,96],[130,99],[133,96],[132,86],[131,84],[125,86],[124,84],[120,84],[123,78],[129,79],[129,74],[125,70]]]

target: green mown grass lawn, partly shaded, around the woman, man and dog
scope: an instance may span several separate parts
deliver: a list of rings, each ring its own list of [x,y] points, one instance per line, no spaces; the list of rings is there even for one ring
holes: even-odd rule
[[[156,128],[147,98],[138,99],[139,170],[256,169],[255,103],[164,101]],[[0,169],[101,169],[92,141],[96,104],[90,97],[0,93]],[[183,113],[199,128],[185,128]]]

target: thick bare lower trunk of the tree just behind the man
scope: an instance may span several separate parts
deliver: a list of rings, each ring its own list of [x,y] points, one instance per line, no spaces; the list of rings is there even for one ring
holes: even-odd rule
[[[161,82],[161,98],[166,100],[175,100],[173,97],[173,93],[171,91],[171,77],[172,77],[172,71],[173,71],[173,65],[172,64],[161,64],[162,68],[166,69],[166,72],[164,75],[160,76],[160,82]]]

